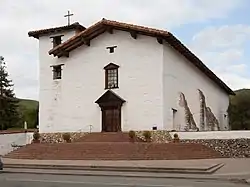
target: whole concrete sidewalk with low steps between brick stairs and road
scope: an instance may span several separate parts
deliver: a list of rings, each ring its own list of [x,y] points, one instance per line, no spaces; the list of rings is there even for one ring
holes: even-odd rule
[[[100,161],[3,158],[3,162],[6,172],[112,176],[132,173],[137,177],[250,179],[250,159]]]

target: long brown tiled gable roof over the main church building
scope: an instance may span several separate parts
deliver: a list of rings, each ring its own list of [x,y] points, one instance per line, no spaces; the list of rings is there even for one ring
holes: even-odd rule
[[[86,30],[68,39],[64,43],[56,46],[49,51],[49,54],[54,56],[63,56],[77,47],[88,44],[89,41],[98,35],[112,29],[123,30],[130,33],[142,34],[151,37],[156,37],[166,41],[172,48],[178,51],[191,63],[193,63],[198,69],[200,69],[205,75],[212,79],[219,87],[226,91],[226,93],[235,95],[235,93],[221,80],[219,79],[196,55],[194,55],[186,46],[184,46],[180,40],[178,40],[173,34],[168,31],[133,25],[128,23],[122,23],[112,20],[102,19],[96,24],[88,27]]]

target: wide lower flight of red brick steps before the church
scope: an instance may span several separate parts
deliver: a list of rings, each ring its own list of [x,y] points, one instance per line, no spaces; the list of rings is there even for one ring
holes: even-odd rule
[[[83,142],[30,144],[4,157],[39,160],[184,160],[222,156],[200,144]]]

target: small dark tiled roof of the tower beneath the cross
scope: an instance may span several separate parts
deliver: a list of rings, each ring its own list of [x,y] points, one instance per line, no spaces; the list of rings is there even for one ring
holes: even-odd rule
[[[86,29],[85,27],[83,27],[78,22],[76,22],[76,23],[73,23],[71,25],[65,25],[65,26],[61,26],[61,27],[54,27],[54,28],[49,28],[49,29],[30,31],[30,32],[28,32],[28,35],[30,37],[34,37],[34,38],[38,39],[41,35],[45,35],[45,34],[56,33],[56,32],[67,31],[67,30],[83,31],[85,29]]]

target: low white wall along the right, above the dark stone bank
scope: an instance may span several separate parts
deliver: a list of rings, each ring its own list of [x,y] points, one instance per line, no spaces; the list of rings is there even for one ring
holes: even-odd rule
[[[250,131],[210,131],[210,132],[170,132],[172,138],[177,133],[182,140],[197,139],[250,139]]]

